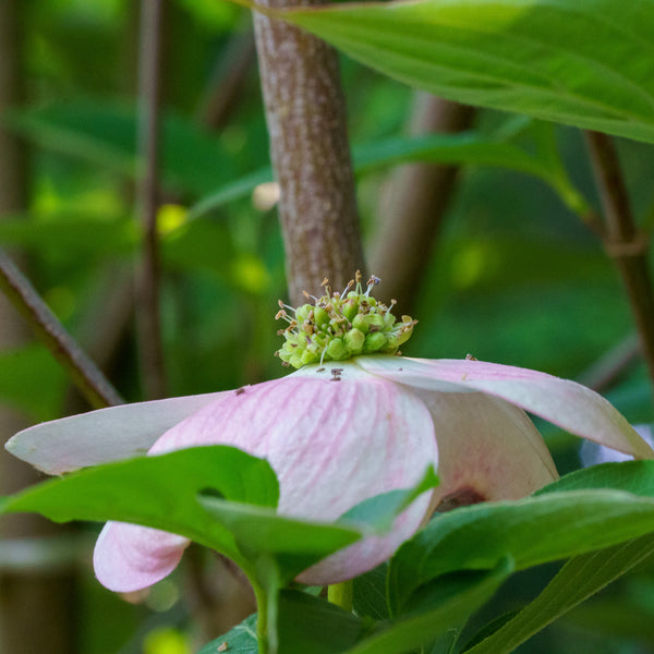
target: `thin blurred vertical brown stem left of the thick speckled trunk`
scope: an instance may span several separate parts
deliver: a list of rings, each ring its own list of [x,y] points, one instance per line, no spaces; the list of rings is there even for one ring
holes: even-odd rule
[[[143,232],[143,261],[136,283],[138,350],[145,392],[166,395],[159,307],[158,122],[161,70],[161,0],[142,0],[138,70],[138,155],[144,162],[136,190]]]

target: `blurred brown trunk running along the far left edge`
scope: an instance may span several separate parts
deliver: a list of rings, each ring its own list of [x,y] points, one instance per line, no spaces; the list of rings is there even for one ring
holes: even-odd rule
[[[20,0],[0,2],[0,116],[22,97]],[[27,206],[26,157],[22,144],[0,128],[0,218],[24,211]],[[13,307],[0,296],[0,350],[26,341],[26,328]],[[35,384],[38,382],[35,380]],[[0,440],[27,425],[25,416],[0,405]],[[0,495],[37,481],[37,473],[0,449]],[[0,521],[0,652],[3,654],[73,654],[76,651],[73,623],[74,574],[72,566],[48,564],[48,544],[62,530],[36,516],[15,516]],[[25,559],[28,544],[37,544],[36,557],[22,568],[14,558]],[[37,560],[40,558],[40,560]],[[2,565],[4,562],[4,565]]]

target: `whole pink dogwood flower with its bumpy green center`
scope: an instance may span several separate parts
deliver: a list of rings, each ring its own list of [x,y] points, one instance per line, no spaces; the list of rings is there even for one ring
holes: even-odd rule
[[[396,325],[368,293],[370,286],[356,294],[359,313],[346,316],[350,327],[340,332],[353,293],[327,294],[313,308],[300,307],[303,322],[289,320],[288,347],[280,353],[300,370],[281,379],[62,419],[17,434],[7,447],[47,473],[63,474],[146,450],[231,445],[269,461],[279,479],[280,514],[319,521],[416,484],[429,464],[437,469],[439,486],[415,499],[388,534],[366,537],[305,570],[299,580],[311,584],[374,568],[436,509],[517,499],[556,480],[525,411],[635,458],[654,457],[609,402],[574,382],[472,359],[393,355],[413,322]],[[348,337],[353,329],[360,335]],[[340,342],[330,346],[335,339]],[[352,355],[352,349],[361,353]],[[377,353],[366,354],[371,350]],[[109,522],[95,549],[96,576],[113,591],[147,588],[175,568],[187,544],[175,534]]]

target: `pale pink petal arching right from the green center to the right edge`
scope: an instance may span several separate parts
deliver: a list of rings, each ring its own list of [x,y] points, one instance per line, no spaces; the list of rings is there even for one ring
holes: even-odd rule
[[[654,458],[654,450],[601,395],[545,373],[474,360],[427,360],[361,356],[363,370],[385,379],[426,390],[476,390],[496,396],[540,415],[564,429],[637,459]]]

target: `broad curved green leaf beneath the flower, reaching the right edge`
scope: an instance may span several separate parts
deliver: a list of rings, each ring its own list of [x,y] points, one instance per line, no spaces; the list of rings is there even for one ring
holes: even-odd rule
[[[521,570],[654,531],[654,499],[613,489],[569,491],[487,502],[437,516],[390,564],[395,611],[436,577],[489,569],[511,556]]]

